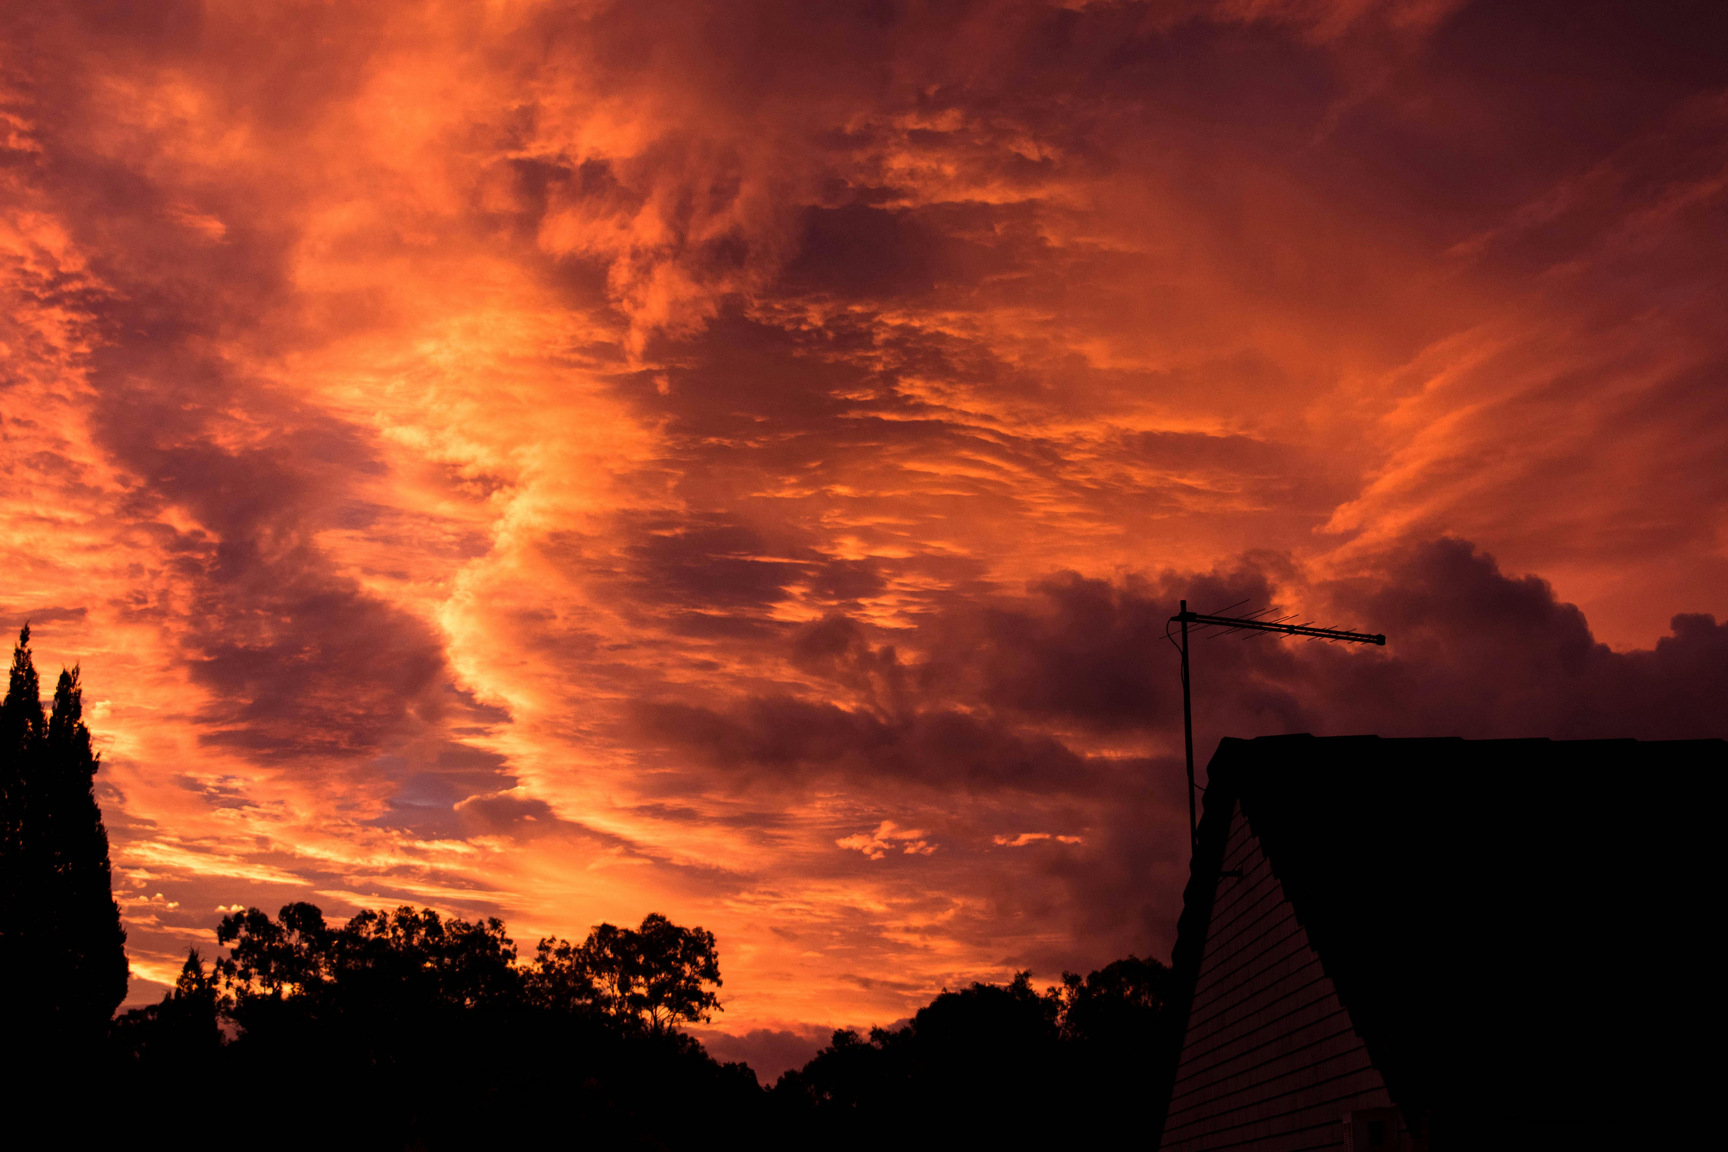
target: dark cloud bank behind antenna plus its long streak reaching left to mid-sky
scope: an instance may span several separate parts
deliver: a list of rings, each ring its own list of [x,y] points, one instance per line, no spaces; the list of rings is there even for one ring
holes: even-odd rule
[[[745,779],[1090,796],[1102,777],[1075,748],[1120,731],[1168,739],[1180,722],[1166,639],[1177,599],[1199,611],[1277,606],[1293,572],[1261,554],[1211,573],[1064,573],[1020,598],[954,606],[897,644],[873,644],[871,629],[829,617],[800,630],[788,655],[852,706],[790,696],[729,710],[662,703],[643,705],[638,724],[645,737]],[[1654,651],[1616,653],[1543,580],[1507,577],[1464,541],[1403,549],[1375,575],[1310,589],[1308,599],[1331,611],[1320,623],[1382,630],[1388,648],[1196,632],[1203,760],[1220,734],[1725,731],[1716,705],[1728,623],[1711,617],[1676,617]]]

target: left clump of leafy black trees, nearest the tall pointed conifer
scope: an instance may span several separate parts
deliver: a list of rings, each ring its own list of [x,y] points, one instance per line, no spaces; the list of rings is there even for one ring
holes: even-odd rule
[[[365,1147],[475,1147],[496,1138],[501,1114],[520,1135],[562,1143],[577,1131],[620,1149],[693,1143],[662,1123],[669,1102],[759,1126],[766,1100],[755,1074],[714,1062],[664,1026],[712,997],[712,934],[665,917],[645,926],[596,929],[582,945],[543,941],[520,965],[496,919],[401,907],[334,926],[309,903],[275,917],[247,908],[221,921],[228,955],[211,976],[188,957],[162,1003],[119,1021],[126,1083],[173,1093],[185,1083],[190,1038],[211,1035],[192,1021],[218,1019],[233,1038],[204,1048],[200,1090],[242,1112],[316,1098],[327,1126],[363,1133],[354,1140]],[[631,979],[608,976],[626,962]],[[615,1010],[601,1009],[601,997],[613,997]],[[454,1098],[468,1107],[453,1109]],[[389,1123],[372,1102],[389,1102]],[[301,1142],[292,1126],[247,1135],[254,1149]]]

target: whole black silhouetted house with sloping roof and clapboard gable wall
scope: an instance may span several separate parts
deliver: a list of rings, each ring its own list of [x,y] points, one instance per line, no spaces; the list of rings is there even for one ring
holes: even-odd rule
[[[1225,739],[1165,1152],[1690,1147],[1725,741]]]

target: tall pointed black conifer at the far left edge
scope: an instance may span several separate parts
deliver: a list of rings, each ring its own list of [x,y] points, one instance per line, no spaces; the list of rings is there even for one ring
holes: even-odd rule
[[[0,703],[0,979],[28,990],[14,1026],[73,1047],[95,1043],[126,998],[98,767],[78,668],[60,672],[43,715],[24,627]]]

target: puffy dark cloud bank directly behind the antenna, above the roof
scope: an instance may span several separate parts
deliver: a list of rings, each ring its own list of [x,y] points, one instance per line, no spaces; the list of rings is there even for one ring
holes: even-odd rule
[[[1180,717],[1165,641],[1177,601],[1198,611],[1248,601],[1237,610],[1248,611],[1291,598],[1298,603],[1277,615],[1306,606],[1299,620],[1384,632],[1388,646],[1196,634],[1196,722],[1211,741],[1284,731],[1638,739],[1728,731],[1719,708],[1728,623],[1674,617],[1652,651],[1616,653],[1545,580],[1509,577],[1465,541],[1398,549],[1382,565],[1312,589],[1306,604],[1287,584],[1294,567],[1270,554],[1120,582],[1068,573],[1018,604],[933,622],[914,675],[926,693],[962,693],[1014,717],[1168,732]]]

